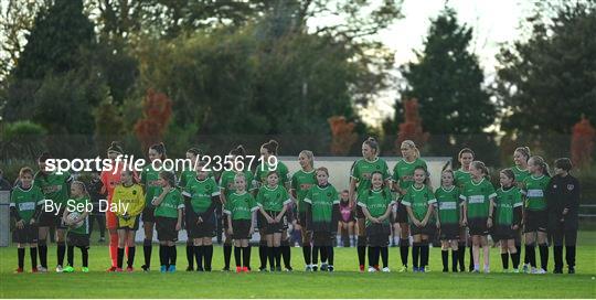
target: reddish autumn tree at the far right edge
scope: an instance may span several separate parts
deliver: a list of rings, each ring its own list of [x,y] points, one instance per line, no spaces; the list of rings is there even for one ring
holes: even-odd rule
[[[594,150],[594,138],[596,130],[585,116],[573,126],[571,142],[571,154],[573,164],[577,168],[589,165]]]

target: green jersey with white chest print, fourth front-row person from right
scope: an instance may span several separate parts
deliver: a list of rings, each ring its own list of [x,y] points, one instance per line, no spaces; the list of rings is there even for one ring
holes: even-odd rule
[[[461,191],[459,199],[466,201],[468,208],[468,218],[485,218],[489,215],[490,199],[496,197],[494,186],[486,180],[479,182],[471,180]]]

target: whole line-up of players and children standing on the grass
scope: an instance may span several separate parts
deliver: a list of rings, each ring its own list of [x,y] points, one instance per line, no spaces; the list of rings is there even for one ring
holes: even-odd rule
[[[117,207],[106,212],[109,231],[108,271],[123,271],[125,254],[127,271],[134,270],[135,234],[142,219],[143,265],[151,268],[153,228],[159,240],[161,272],[173,272],[177,266],[175,242],[178,232],[188,233],[187,270],[211,271],[216,222],[222,222],[225,235],[223,247],[224,270],[230,270],[232,249],[236,272],[251,271],[248,244],[258,228],[259,271],[281,271],[290,266],[288,224],[295,224],[302,236],[302,254],[307,271],[333,271],[333,245],[338,226],[356,225],[358,265],[360,271],[390,271],[389,236],[392,224],[400,224],[400,271],[425,272],[428,267],[429,240],[438,235],[441,242],[443,271],[465,271],[466,247],[470,248],[468,270],[489,272],[487,236],[500,242],[504,271],[545,274],[549,265],[549,245],[553,244],[554,272],[563,272],[563,246],[570,274],[575,272],[577,239],[577,207],[579,184],[570,173],[566,158],[554,162],[554,175],[549,165],[530,149],[520,147],[513,153],[515,165],[499,172],[500,186],[494,189],[488,180],[488,169],[475,160],[471,149],[458,154],[458,170],[444,169],[440,186],[433,190],[426,162],[413,141],[401,144],[403,159],[392,172],[379,158],[379,144],[373,138],[362,143],[362,158],[356,160],[350,174],[350,186],[341,193],[329,183],[329,171],[315,167],[311,151],[298,156],[301,170],[289,175],[284,162],[269,165],[277,156],[278,143],[270,140],[260,147],[262,164],[256,171],[226,170],[217,174],[204,170],[173,172],[159,170],[159,161],[167,159],[166,147],[155,144],[148,150],[152,162],[141,172],[124,168],[117,172],[93,172],[86,184],[74,180],[68,172],[46,171],[49,153],[39,158],[36,173],[23,167],[11,192],[11,216],[15,221],[13,242],[18,244],[17,272],[23,272],[25,246],[30,246],[33,272],[47,271],[47,236],[56,227],[57,272],[74,271],[74,248],[82,254],[82,271],[88,271],[89,210],[87,203],[105,199]],[[107,150],[110,160],[123,156],[118,142]],[[202,154],[191,148],[188,159]],[[243,158],[242,146],[230,156]],[[156,162],[157,161],[157,162]],[[157,165],[157,168],[156,168]],[[237,164],[236,164],[237,165]],[[289,192],[288,192],[289,190]],[[43,210],[44,200],[64,204],[57,213]],[[222,207],[223,216],[220,216]],[[524,261],[520,257],[524,243]],[[234,246],[234,248],[232,247]],[[536,245],[540,266],[536,265]],[[451,264],[449,264],[449,248]],[[412,250],[411,250],[412,249]],[[480,253],[483,253],[483,261]],[[40,265],[38,266],[38,253]],[[64,257],[67,265],[64,266]],[[319,258],[321,265],[319,266]],[[368,264],[366,264],[368,258]],[[195,266],[196,265],[196,266]],[[268,265],[268,268],[267,268]],[[366,268],[368,267],[368,268]]]

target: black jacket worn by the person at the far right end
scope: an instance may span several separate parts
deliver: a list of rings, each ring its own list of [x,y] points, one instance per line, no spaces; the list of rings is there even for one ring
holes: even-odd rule
[[[564,218],[577,219],[579,192],[579,181],[571,174],[553,176],[546,189],[546,201],[551,217],[563,218],[563,210],[567,208],[568,213]]]

